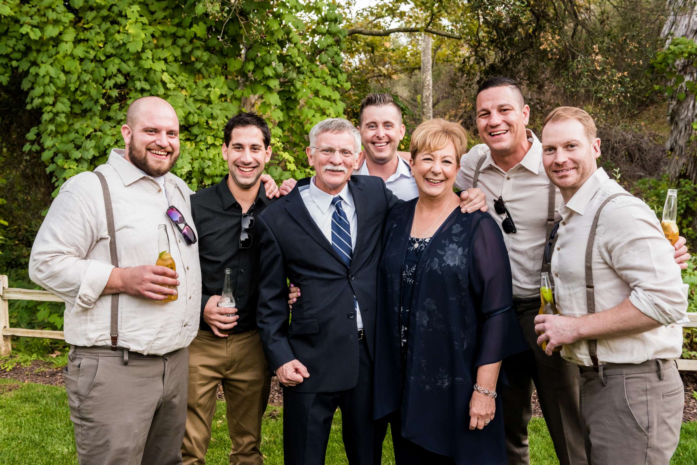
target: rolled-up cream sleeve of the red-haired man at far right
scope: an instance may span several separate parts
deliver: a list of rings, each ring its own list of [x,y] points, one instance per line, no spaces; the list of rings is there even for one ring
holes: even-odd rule
[[[631,287],[631,304],[664,325],[684,320],[689,286],[654,212],[641,200],[622,197],[604,208],[605,215],[597,231],[600,251]]]

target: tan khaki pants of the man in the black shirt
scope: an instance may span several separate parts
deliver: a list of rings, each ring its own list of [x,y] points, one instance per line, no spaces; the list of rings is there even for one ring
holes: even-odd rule
[[[210,423],[215,413],[215,389],[222,381],[232,441],[230,463],[261,465],[261,418],[268,403],[271,372],[259,331],[219,338],[210,331],[199,330],[189,346],[189,353],[189,398],[181,449],[183,463],[206,463]]]

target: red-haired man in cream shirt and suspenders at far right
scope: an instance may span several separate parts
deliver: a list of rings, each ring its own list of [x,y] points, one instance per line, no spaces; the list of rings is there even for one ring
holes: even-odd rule
[[[538,315],[537,343],[579,366],[593,465],[668,465],[680,439],[688,286],[656,215],[597,168],[588,113],[559,107],[542,129],[549,179],[565,205],[551,271],[560,315]]]

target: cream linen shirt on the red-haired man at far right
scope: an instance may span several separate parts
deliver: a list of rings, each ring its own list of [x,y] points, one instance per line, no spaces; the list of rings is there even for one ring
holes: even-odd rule
[[[560,209],[556,251],[552,255],[556,303],[562,315],[588,314],[585,297],[585,247],[598,207],[626,192],[602,168]],[[633,336],[598,340],[598,363],[642,363],[652,358],[679,358],[686,317],[688,285],[682,283],[675,249],[666,240],[656,215],[636,197],[618,196],[600,214],[592,270],[597,313],[629,297],[642,313],[664,324]],[[562,357],[591,366],[588,342],[565,345]]]

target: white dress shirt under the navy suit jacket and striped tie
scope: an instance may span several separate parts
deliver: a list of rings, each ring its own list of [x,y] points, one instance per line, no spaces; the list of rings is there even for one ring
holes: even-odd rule
[[[342,208],[344,213],[346,213],[346,218],[348,218],[348,223],[351,224],[351,250],[355,247],[355,239],[358,236],[358,220],[355,216],[355,204],[353,203],[353,196],[351,196],[351,191],[348,190],[348,183],[344,186],[341,192],[338,194],[342,198]],[[309,216],[312,216],[314,222],[322,231],[322,234],[329,243],[332,243],[332,214],[334,214],[336,208],[332,207],[332,194],[327,194],[322,189],[319,189],[314,184],[314,176],[310,181],[308,186],[302,187],[300,189],[300,197],[302,201],[305,202],[305,207],[309,212]],[[358,300],[355,306],[355,322],[358,324],[358,329],[363,329],[363,319],[360,316],[360,305]]]

